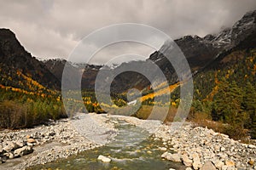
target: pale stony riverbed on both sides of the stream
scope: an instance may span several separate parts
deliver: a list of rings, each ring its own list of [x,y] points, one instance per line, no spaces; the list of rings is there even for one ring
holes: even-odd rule
[[[113,116],[79,114],[73,120],[64,119],[47,126],[1,131],[0,169],[25,169],[108,144],[118,134],[114,127],[117,122],[110,117]],[[159,121],[114,117],[147,130],[154,140],[162,143],[163,159],[180,161],[188,170],[256,169],[256,146],[253,144],[241,144],[212,129],[194,127],[188,122],[173,131],[170,125]]]

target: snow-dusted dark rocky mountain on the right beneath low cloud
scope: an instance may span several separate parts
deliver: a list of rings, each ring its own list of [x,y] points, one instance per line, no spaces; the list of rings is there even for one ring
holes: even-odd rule
[[[191,71],[197,72],[211,64],[218,58],[219,54],[236,47],[247,37],[250,37],[256,29],[256,11],[245,14],[241,20],[238,20],[231,28],[224,29],[216,35],[207,35],[206,37],[185,36],[175,40],[183,54],[188,59]],[[165,43],[159,51],[151,54],[149,59],[153,60],[163,71],[171,82],[177,81],[173,75],[171,63],[165,58],[163,53],[171,46]]]

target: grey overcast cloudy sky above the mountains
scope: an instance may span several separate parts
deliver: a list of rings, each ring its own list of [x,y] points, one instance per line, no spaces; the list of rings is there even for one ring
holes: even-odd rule
[[[0,0],[0,4],[0,27],[14,31],[26,50],[41,59],[67,59],[83,37],[103,26],[140,23],[173,39],[203,37],[256,9],[255,0]],[[95,62],[107,62],[106,56],[124,51],[152,52],[141,46],[116,44],[103,49]]]

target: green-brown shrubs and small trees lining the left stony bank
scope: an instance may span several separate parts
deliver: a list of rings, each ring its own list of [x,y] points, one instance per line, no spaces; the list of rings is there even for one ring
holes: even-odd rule
[[[49,119],[60,119],[67,117],[66,112],[59,103],[48,103],[47,101],[20,101],[4,100],[0,102],[0,127],[21,128],[33,127],[48,122]]]

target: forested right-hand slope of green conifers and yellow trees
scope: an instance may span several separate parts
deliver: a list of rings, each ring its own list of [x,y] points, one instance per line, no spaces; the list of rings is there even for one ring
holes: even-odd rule
[[[251,139],[256,139],[256,30],[219,54],[195,75],[193,82],[191,112],[205,113],[213,121],[228,123],[224,133],[234,139],[248,133]]]

